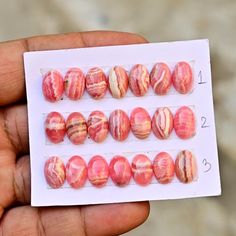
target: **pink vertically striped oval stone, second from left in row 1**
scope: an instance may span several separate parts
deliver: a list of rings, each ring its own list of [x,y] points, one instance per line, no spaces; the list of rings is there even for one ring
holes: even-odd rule
[[[79,68],[71,68],[67,71],[64,79],[65,94],[71,100],[82,97],[85,88],[85,76]]]

